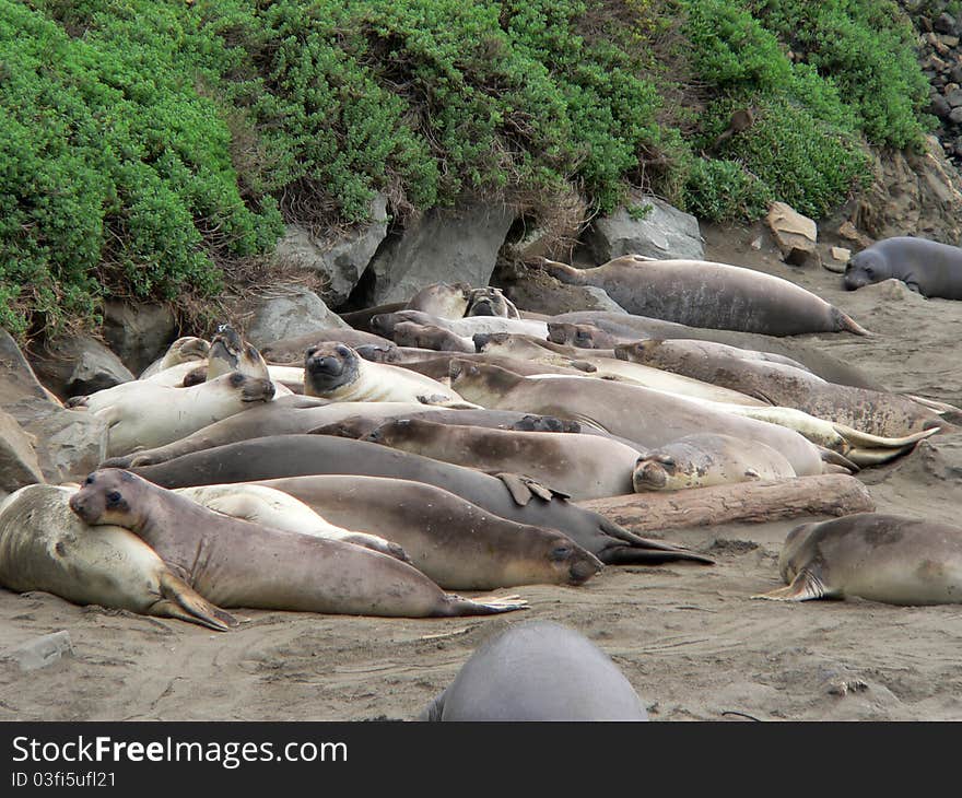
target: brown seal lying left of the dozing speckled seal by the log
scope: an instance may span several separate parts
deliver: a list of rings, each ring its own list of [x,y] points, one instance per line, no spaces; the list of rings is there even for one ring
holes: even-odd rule
[[[593,435],[485,430],[412,419],[386,422],[364,439],[489,473],[521,473],[576,502],[631,493],[638,458],[635,449]]]

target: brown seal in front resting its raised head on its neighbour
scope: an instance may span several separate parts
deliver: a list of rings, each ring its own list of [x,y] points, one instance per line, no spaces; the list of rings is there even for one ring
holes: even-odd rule
[[[417,568],[376,551],[214,513],[129,471],[90,474],[70,508],[92,526],[129,529],[195,590],[223,607],[426,618],[524,609],[516,597],[445,594]]]

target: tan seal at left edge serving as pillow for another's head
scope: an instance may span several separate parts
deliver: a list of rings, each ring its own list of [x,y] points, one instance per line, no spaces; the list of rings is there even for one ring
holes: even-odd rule
[[[75,605],[177,618],[224,632],[237,622],[202,598],[140,538],[92,529],[70,511],[74,488],[27,485],[0,503],[0,585]]]

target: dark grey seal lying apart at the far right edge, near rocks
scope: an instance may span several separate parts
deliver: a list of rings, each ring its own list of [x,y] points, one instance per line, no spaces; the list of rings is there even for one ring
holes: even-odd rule
[[[913,236],[883,238],[852,257],[843,282],[855,291],[891,279],[926,297],[962,300],[962,248]]]

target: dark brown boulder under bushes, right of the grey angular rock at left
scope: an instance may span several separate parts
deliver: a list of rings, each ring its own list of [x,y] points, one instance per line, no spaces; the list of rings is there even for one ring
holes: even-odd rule
[[[166,305],[133,305],[108,300],[104,303],[102,332],[124,365],[133,374],[140,374],[167,351],[177,338],[178,326]]]

